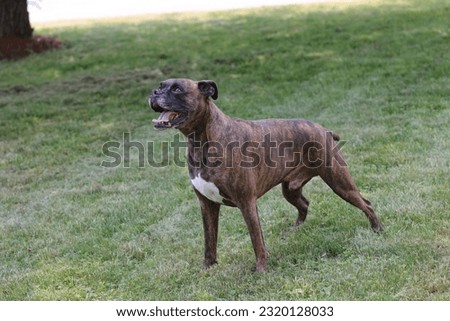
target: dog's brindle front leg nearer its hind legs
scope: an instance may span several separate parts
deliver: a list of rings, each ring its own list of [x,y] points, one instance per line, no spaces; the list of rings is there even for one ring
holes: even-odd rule
[[[252,240],[253,250],[255,251],[256,272],[265,272],[267,268],[267,257],[269,255],[264,244],[264,237],[259,223],[256,199],[239,206],[239,209],[244,216]]]

